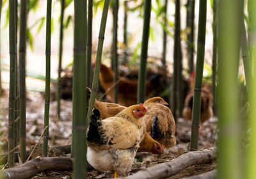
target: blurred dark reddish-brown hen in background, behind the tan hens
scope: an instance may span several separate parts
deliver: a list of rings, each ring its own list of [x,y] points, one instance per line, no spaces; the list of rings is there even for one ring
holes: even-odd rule
[[[146,81],[146,98],[150,96],[150,92],[159,84],[159,77],[154,75]],[[113,102],[113,71],[108,66],[101,64],[100,66],[100,86],[106,91]],[[118,104],[129,106],[136,104],[138,81],[119,77],[118,79]]]

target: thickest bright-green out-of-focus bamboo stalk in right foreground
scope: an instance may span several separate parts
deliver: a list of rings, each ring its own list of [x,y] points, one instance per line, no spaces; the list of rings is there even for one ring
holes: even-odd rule
[[[218,174],[241,178],[239,96],[237,72],[243,20],[243,1],[218,1]]]

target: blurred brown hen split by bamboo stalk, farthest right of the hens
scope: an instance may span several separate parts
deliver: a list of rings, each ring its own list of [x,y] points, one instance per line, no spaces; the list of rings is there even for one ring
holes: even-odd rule
[[[186,120],[192,120],[194,81],[195,81],[195,72],[191,72],[190,74],[191,90],[189,91],[188,95],[185,98],[184,109],[182,110],[182,115]],[[213,97],[212,97],[211,91],[203,87],[201,92],[200,125],[202,125],[204,121],[208,120],[213,116],[212,104],[213,104]]]

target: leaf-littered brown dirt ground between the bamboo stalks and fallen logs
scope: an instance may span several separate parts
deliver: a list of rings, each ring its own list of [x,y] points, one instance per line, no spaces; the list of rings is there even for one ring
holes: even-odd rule
[[[7,148],[7,127],[8,127],[8,94],[0,98],[1,102],[1,118],[0,121],[0,134],[1,134],[1,146],[6,151]],[[61,100],[61,118],[56,117],[56,102],[51,102],[50,105],[50,123],[49,123],[49,146],[66,145],[71,143],[71,128],[72,128],[72,101]],[[38,139],[44,130],[44,97],[39,92],[27,93],[27,150],[31,149],[31,146],[38,142]],[[211,148],[216,143],[216,118],[211,118],[203,123],[200,128],[199,136],[199,149]],[[177,120],[177,144],[170,150],[166,150],[166,155],[159,156],[157,159],[150,156],[149,159],[145,159],[143,162],[135,162],[132,173],[136,173],[140,169],[154,166],[159,163],[168,162],[177,157],[178,150],[183,148],[184,152],[188,151],[189,139],[190,139],[190,126],[191,121],[179,118]],[[40,142],[42,143],[42,141]],[[153,160],[154,159],[154,160]],[[169,178],[183,178],[185,176],[197,175],[205,173],[216,167],[216,163],[199,164],[190,166],[178,173],[177,175]],[[72,178],[72,171],[45,171],[33,176],[34,179],[44,178]],[[96,170],[88,171],[88,178],[113,178],[112,173],[99,173]]]

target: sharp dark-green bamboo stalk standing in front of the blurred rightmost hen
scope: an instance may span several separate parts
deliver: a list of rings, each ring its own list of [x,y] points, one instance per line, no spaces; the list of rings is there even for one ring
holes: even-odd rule
[[[201,90],[202,90],[202,79],[203,79],[203,71],[204,71],[205,31],[206,31],[206,15],[207,15],[206,7],[207,7],[207,1],[200,0],[190,150],[198,149]]]

